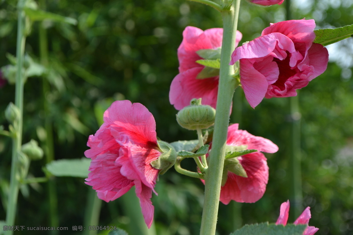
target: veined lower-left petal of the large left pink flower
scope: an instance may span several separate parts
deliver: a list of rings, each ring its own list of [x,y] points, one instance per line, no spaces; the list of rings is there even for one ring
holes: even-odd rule
[[[92,159],[86,179],[86,184],[92,186],[98,198],[109,202],[125,194],[134,185],[120,173],[120,166],[114,162],[118,156],[112,153],[103,153]]]

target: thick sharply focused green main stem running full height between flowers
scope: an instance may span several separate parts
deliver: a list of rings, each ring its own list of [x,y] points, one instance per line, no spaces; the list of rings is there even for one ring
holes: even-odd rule
[[[200,235],[214,235],[216,231],[229,113],[236,86],[236,81],[232,78],[234,69],[233,66],[229,66],[229,61],[235,48],[240,0],[232,1],[228,4],[231,4],[229,10],[221,12],[223,18],[223,41],[220,79],[212,151],[209,167],[205,175],[205,200]]]

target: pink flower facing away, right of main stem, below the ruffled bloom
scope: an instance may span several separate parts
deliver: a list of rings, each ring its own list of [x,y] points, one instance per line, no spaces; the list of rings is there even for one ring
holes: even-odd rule
[[[266,153],[278,151],[277,145],[270,140],[251,135],[245,130],[238,130],[238,126],[239,124],[233,124],[228,127],[227,148],[235,146],[243,149],[256,149]],[[244,168],[247,178],[228,171],[226,160],[224,171],[227,171],[227,181],[221,186],[220,195],[220,201],[226,205],[231,200],[246,203],[257,202],[266,191],[269,168],[264,154],[260,152],[245,154],[238,157],[238,160]]]

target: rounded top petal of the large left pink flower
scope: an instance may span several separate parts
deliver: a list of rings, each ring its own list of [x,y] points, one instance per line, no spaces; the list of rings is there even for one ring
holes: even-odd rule
[[[130,136],[138,143],[157,144],[155,119],[140,103],[131,104],[130,100],[115,101],[104,112],[103,120],[121,136]]]

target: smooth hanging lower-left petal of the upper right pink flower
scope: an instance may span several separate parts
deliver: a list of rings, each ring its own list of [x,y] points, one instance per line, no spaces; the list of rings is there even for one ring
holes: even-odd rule
[[[270,66],[273,66],[273,64],[270,64]],[[277,67],[276,64],[275,66]],[[278,68],[272,69],[274,70],[274,73],[278,71]],[[267,92],[268,82],[266,77],[258,72],[248,59],[241,59],[240,83],[244,90],[246,100],[249,102],[251,107],[255,108],[259,103],[261,103]]]

